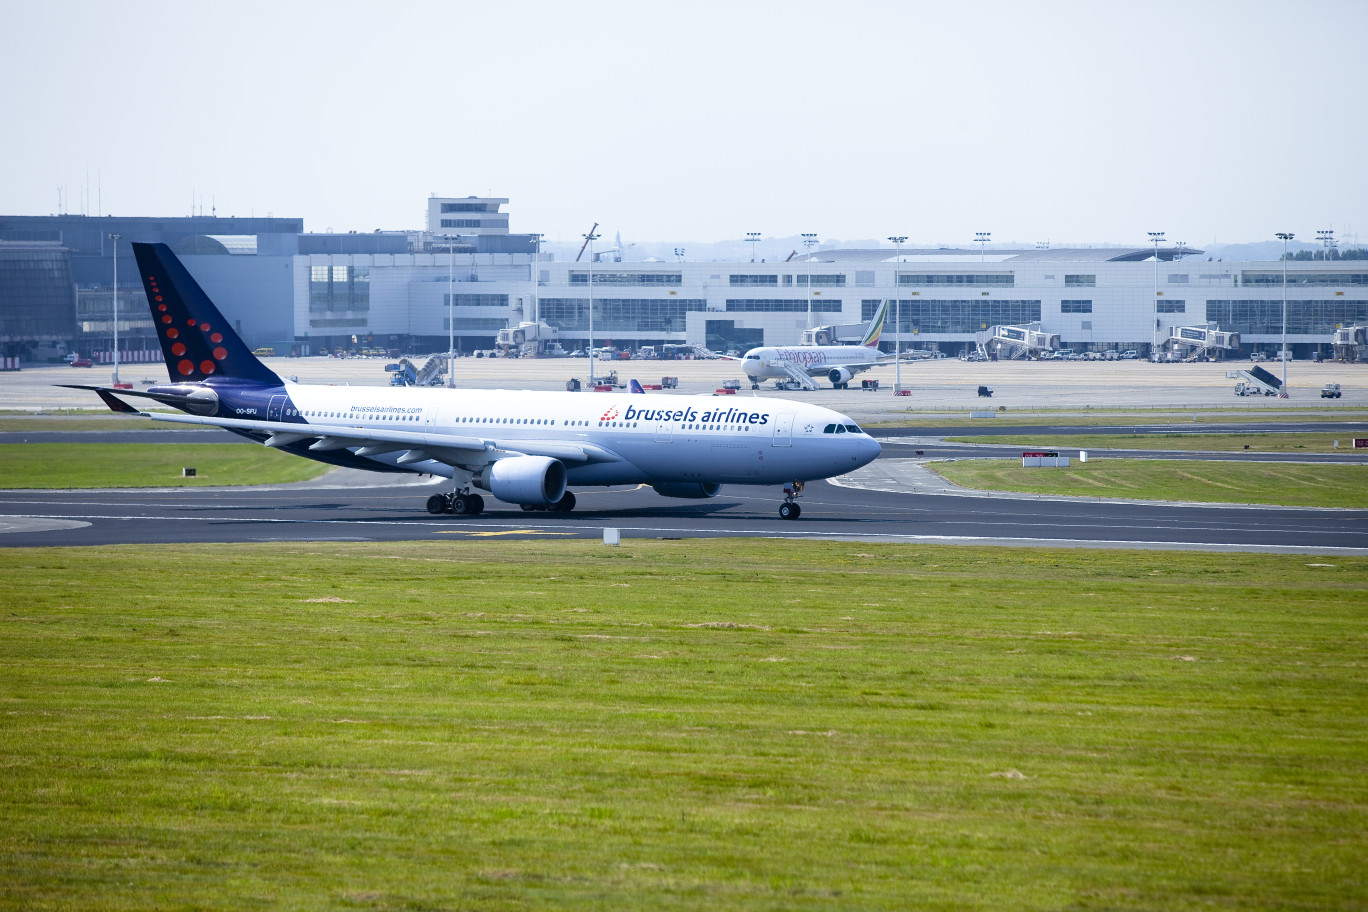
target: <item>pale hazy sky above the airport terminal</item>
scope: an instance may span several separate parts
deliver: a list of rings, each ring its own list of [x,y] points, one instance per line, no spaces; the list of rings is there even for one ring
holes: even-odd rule
[[[1365,0],[0,0],[0,212],[1368,243],[1365,46]]]

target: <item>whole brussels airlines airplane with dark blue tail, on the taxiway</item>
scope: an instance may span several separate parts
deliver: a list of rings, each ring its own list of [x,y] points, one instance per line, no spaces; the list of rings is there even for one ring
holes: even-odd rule
[[[451,479],[449,494],[428,498],[430,513],[476,515],[476,489],[564,513],[575,507],[572,484],[648,484],[669,498],[787,484],[778,513],[795,520],[804,481],[880,453],[845,416],[785,399],[301,386],[253,357],[170,247],[133,252],[171,383],[63,386],[92,390],[115,412],[140,413],[123,398],[153,399],[187,414],[145,417],[224,428],[320,462]]]

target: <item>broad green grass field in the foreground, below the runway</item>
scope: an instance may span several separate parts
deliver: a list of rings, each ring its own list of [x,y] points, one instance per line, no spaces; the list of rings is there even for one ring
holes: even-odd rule
[[[1368,561],[0,551],[0,907],[1368,904]]]

